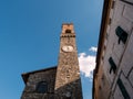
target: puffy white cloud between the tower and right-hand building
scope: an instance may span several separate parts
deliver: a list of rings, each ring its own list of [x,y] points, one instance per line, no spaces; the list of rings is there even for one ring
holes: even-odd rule
[[[96,52],[96,47],[91,47],[90,51]],[[85,77],[93,78],[93,70],[95,68],[95,56],[80,53],[79,64],[81,74],[83,74]]]

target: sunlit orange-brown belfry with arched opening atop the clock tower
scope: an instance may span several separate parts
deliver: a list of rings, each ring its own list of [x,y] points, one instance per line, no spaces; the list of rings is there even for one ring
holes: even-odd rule
[[[74,33],[73,23],[63,23],[62,24],[62,33]]]

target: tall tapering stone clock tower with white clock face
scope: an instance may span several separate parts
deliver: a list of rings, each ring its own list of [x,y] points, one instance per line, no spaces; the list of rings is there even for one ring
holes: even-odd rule
[[[54,94],[61,99],[82,99],[81,78],[72,23],[62,24]]]

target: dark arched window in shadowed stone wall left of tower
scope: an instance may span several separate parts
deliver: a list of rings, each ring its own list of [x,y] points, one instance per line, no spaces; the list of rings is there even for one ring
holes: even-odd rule
[[[48,84],[45,81],[40,81],[37,86],[37,92],[39,94],[48,92]]]

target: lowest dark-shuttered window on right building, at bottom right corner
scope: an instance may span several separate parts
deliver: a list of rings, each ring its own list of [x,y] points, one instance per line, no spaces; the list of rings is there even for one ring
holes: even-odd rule
[[[122,80],[120,78],[117,79],[117,85],[119,85],[119,88],[120,88],[124,99],[131,99],[125,87],[124,87],[124,84],[122,82]]]

